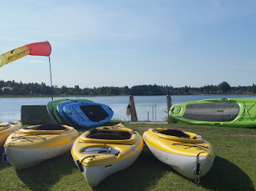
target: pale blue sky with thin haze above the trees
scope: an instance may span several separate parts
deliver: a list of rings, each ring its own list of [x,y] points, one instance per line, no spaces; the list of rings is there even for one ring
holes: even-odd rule
[[[255,0],[12,0],[0,21],[0,54],[49,41],[59,88],[256,84]],[[50,85],[48,57],[8,63],[0,79]]]

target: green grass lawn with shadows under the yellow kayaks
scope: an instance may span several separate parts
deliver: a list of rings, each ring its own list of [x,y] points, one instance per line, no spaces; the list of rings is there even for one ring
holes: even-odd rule
[[[110,122],[116,125],[117,121]],[[256,189],[256,128],[224,128],[202,125],[129,124],[143,134],[148,128],[167,127],[201,134],[216,154],[208,174],[196,185],[156,160],[144,146],[139,158],[126,170],[107,177],[91,188],[71,154],[44,161],[27,170],[15,170],[0,164],[0,190],[255,190]],[[80,133],[85,131],[79,129]],[[22,159],[21,159],[22,160]]]

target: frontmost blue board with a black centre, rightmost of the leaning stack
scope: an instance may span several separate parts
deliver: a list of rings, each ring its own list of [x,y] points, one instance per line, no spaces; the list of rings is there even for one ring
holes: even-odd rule
[[[103,125],[113,117],[108,105],[95,102],[71,102],[63,106],[63,111],[73,124],[82,128]]]

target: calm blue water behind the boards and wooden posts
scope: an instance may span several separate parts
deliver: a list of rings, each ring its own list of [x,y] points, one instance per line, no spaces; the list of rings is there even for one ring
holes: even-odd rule
[[[172,105],[201,99],[215,98],[253,98],[256,95],[172,95]],[[129,96],[95,96],[95,97],[58,97],[56,99],[90,99],[94,102],[109,105],[113,109],[113,119],[129,121],[126,107]],[[46,105],[51,98],[0,98],[0,121],[21,119],[21,105]],[[166,95],[134,96],[139,121],[165,120],[167,117]]]

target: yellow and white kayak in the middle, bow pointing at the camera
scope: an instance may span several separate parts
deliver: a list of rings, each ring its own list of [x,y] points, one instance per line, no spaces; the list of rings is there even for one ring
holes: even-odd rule
[[[122,124],[93,128],[81,134],[71,149],[77,167],[90,186],[123,170],[139,157],[143,139]]]

